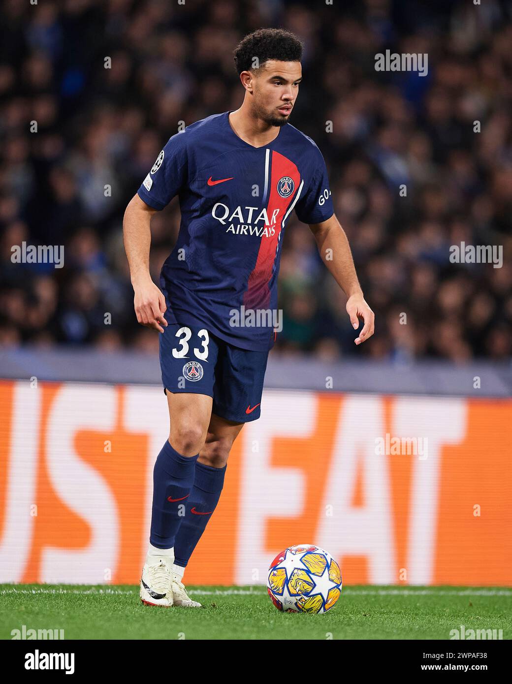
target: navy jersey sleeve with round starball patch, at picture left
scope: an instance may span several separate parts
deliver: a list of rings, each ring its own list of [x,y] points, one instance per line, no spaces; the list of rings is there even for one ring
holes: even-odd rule
[[[186,133],[176,133],[167,142],[137,191],[146,205],[164,209],[188,181]]]

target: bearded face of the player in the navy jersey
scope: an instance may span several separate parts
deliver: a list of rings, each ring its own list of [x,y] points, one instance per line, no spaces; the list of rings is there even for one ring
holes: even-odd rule
[[[300,62],[268,60],[255,78],[257,116],[271,126],[284,126],[294,107],[301,79]]]

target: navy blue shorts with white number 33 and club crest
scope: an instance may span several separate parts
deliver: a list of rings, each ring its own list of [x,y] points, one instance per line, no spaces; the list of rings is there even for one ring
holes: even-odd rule
[[[159,334],[164,392],[212,397],[212,412],[235,423],[259,418],[268,351],[225,342],[204,327],[169,324]]]

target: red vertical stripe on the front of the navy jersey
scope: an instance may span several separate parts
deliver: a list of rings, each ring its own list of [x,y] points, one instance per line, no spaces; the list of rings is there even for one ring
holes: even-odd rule
[[[274,226],[274,235],[270,237],[266,237],[266,235],[261,236],[256,264],[251,274],[249,274],[247,290],[244,293],[244,306],[252,309],[268,308],[270,302],[268,282],[272,278],[272,269],[276,259],[281,225],[284,215],[288,207],[290,207],[300,185],[300,173],[293,161],[290,161],[290,159],[274,150],[271,151],[270,155],[270,193],[266,206],[268,220],[272,221],[272,214],[276,209],[279,209],[279,213],[276,217],[277,223],[266,226],[266,228]],[[281,197],[279,192],[277,192],[277,184],[284,176],[291,178],[295,184],[294,191],[288,197]]]

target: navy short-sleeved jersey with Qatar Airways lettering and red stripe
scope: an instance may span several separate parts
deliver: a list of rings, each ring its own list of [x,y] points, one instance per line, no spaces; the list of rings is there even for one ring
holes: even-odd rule
[[[255,148],[228,117],[214,114],[173,135],[138,195],[153,209],[179,196],[179,235],[160,276],[168,323],[201,325],[237,347],[263,351],[274,343],[287,220],[295,210],[304,223],[326,221],[333,203],[310,137],[285,124]]]

